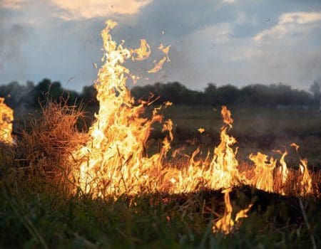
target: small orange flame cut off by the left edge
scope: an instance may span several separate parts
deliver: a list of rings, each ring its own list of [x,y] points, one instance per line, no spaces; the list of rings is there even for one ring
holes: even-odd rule
[[[4,98],[0,97],[0,142],[13,142],[12,121],[14,121],[14,111],[4,104]]]

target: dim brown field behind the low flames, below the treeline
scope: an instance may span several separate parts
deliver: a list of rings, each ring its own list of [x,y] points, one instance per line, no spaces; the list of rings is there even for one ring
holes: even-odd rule
[[[300,157],[307,158],[310,166],[321,167],[321,113],[318,110],[228,108],[234,119],[230,134],[238,140],[240,159],[248,159],[252,152],[260,151],[275,156],[272,150],[287,149],[289,163],[297,166],[297,154],[289,146],[295,142],[300,145]],[[220,107],[173,106],[168,107],[164,115],[173,120],[175,142],[179,145],[191,147],[190,141],[195,139],[195,144],[208,149],[219,143],[223,124]],[[205,129],[203,134],[198,132],[200,127]]]

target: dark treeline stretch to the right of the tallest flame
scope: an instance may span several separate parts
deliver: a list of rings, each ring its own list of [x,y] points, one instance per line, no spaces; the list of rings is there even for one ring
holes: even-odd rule
[[[203,91],[198,91],[190,90],[185,85],[174,82],[136,86],[132,89],[132,94],[136,99],[142,100],[156,96],[158,104],[170,101],[176,105],[317,106],[320,102],[320,86],[315,82],[310,89],[312,93],[292,89],[290,85],[282,83],[247,85],[243,88],[237,88],[234,85],[216,86],[209,83]]]

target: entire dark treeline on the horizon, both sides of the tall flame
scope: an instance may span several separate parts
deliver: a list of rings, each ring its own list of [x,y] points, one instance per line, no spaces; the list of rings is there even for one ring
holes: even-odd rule
[[[135,86],[131,89],[136,100],[152,100],[156,104],[170,101],[175,105],[245,105],[260,107],[282,106],[318,106],[320,105],[320,85],[315,82],[310,92],[292,89],[290,85],[247,85],[237,88],[234,85],[217,86],[208,84],[203,90],[190,90],[185,85],[174,83],[156,83],[154,85]],[[68,105],[98,105],[96,90],[86,86],[81,92],[66,90],[58,81],[41,80],[38,84],[27,82],[20,85],[11,82],[0,85],[0,97],[6,98],[11,108],[38,108],[47,99],[66,101]]]

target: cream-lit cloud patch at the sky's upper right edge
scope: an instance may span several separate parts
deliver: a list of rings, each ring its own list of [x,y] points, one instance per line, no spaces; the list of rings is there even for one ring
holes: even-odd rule
[[[258,33],[254,40],[280,39],[294,33],[306,33],[307,25],[321,21],[321,12],[292,12],[282,14],[277,25]]]

